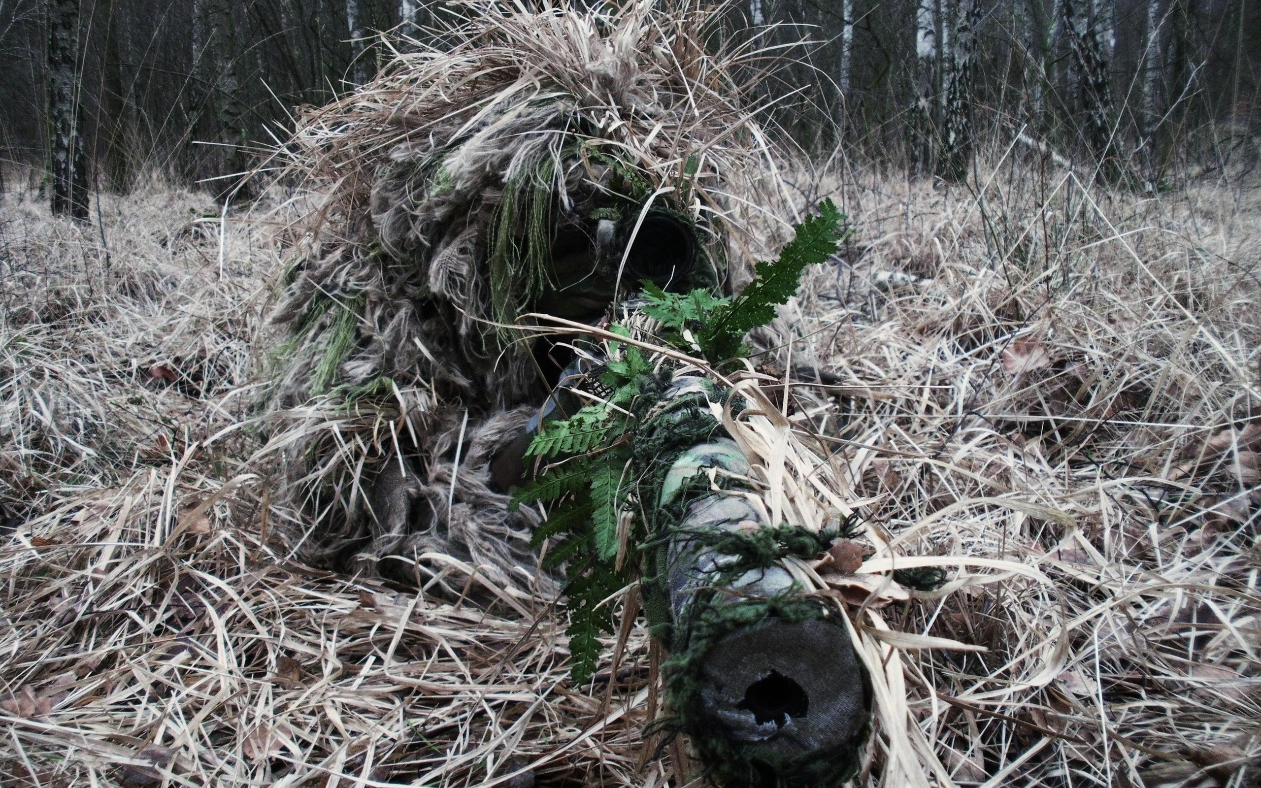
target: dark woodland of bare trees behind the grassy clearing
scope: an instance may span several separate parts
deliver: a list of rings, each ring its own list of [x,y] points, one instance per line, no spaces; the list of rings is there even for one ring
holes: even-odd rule
[[[295,107],[371,78],[388,54],[375,32],[431,42],[450,11],[0,0],[0,156],[79,218],[88,194],[125,193],[144,171],[222,197]],[[962,180],[976,145],[1000,140],[1151,192],[1261,156],[1255,0],[741,0],[711,35],[767,49],[773,74],[752,98],[822,159]]]

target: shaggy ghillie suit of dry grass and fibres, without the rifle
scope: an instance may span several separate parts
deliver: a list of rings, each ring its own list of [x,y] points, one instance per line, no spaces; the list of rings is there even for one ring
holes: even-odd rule
[[[711,15],[460,8],[303,117],[288,155],[323,200],[293,228],[274,314],[290,337],[270,449],[304,557],[412,582],[426,552],[531,571],[532,514],[509,513],[488,464],[554,372],[511,325],[632,295],[630,237],[654,217],[695,247],[658,272],[672,289],[729,287],[767,171],[730,76],[745,55],[701,43]],[[598,248],[605,276],[566,246]]]

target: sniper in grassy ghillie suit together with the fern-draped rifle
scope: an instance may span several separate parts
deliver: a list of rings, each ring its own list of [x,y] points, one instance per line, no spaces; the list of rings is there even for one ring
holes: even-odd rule
[[[837,586],[876,589],[825,579],[854,535],[841,474],[743,357],[841,217],[821,207],[730,298],[763,135],[697,42],[707,18],[477,11],[294,142],[327,194],[275,316],[290,424],[270,446],[304,557],[426,585],[454,556],[528,581],[531,541],[556,537],[578,678],[603,603],[638,582],[673,653],[672,725],[711,774],[839,785],[879,658],[860,659]]]

